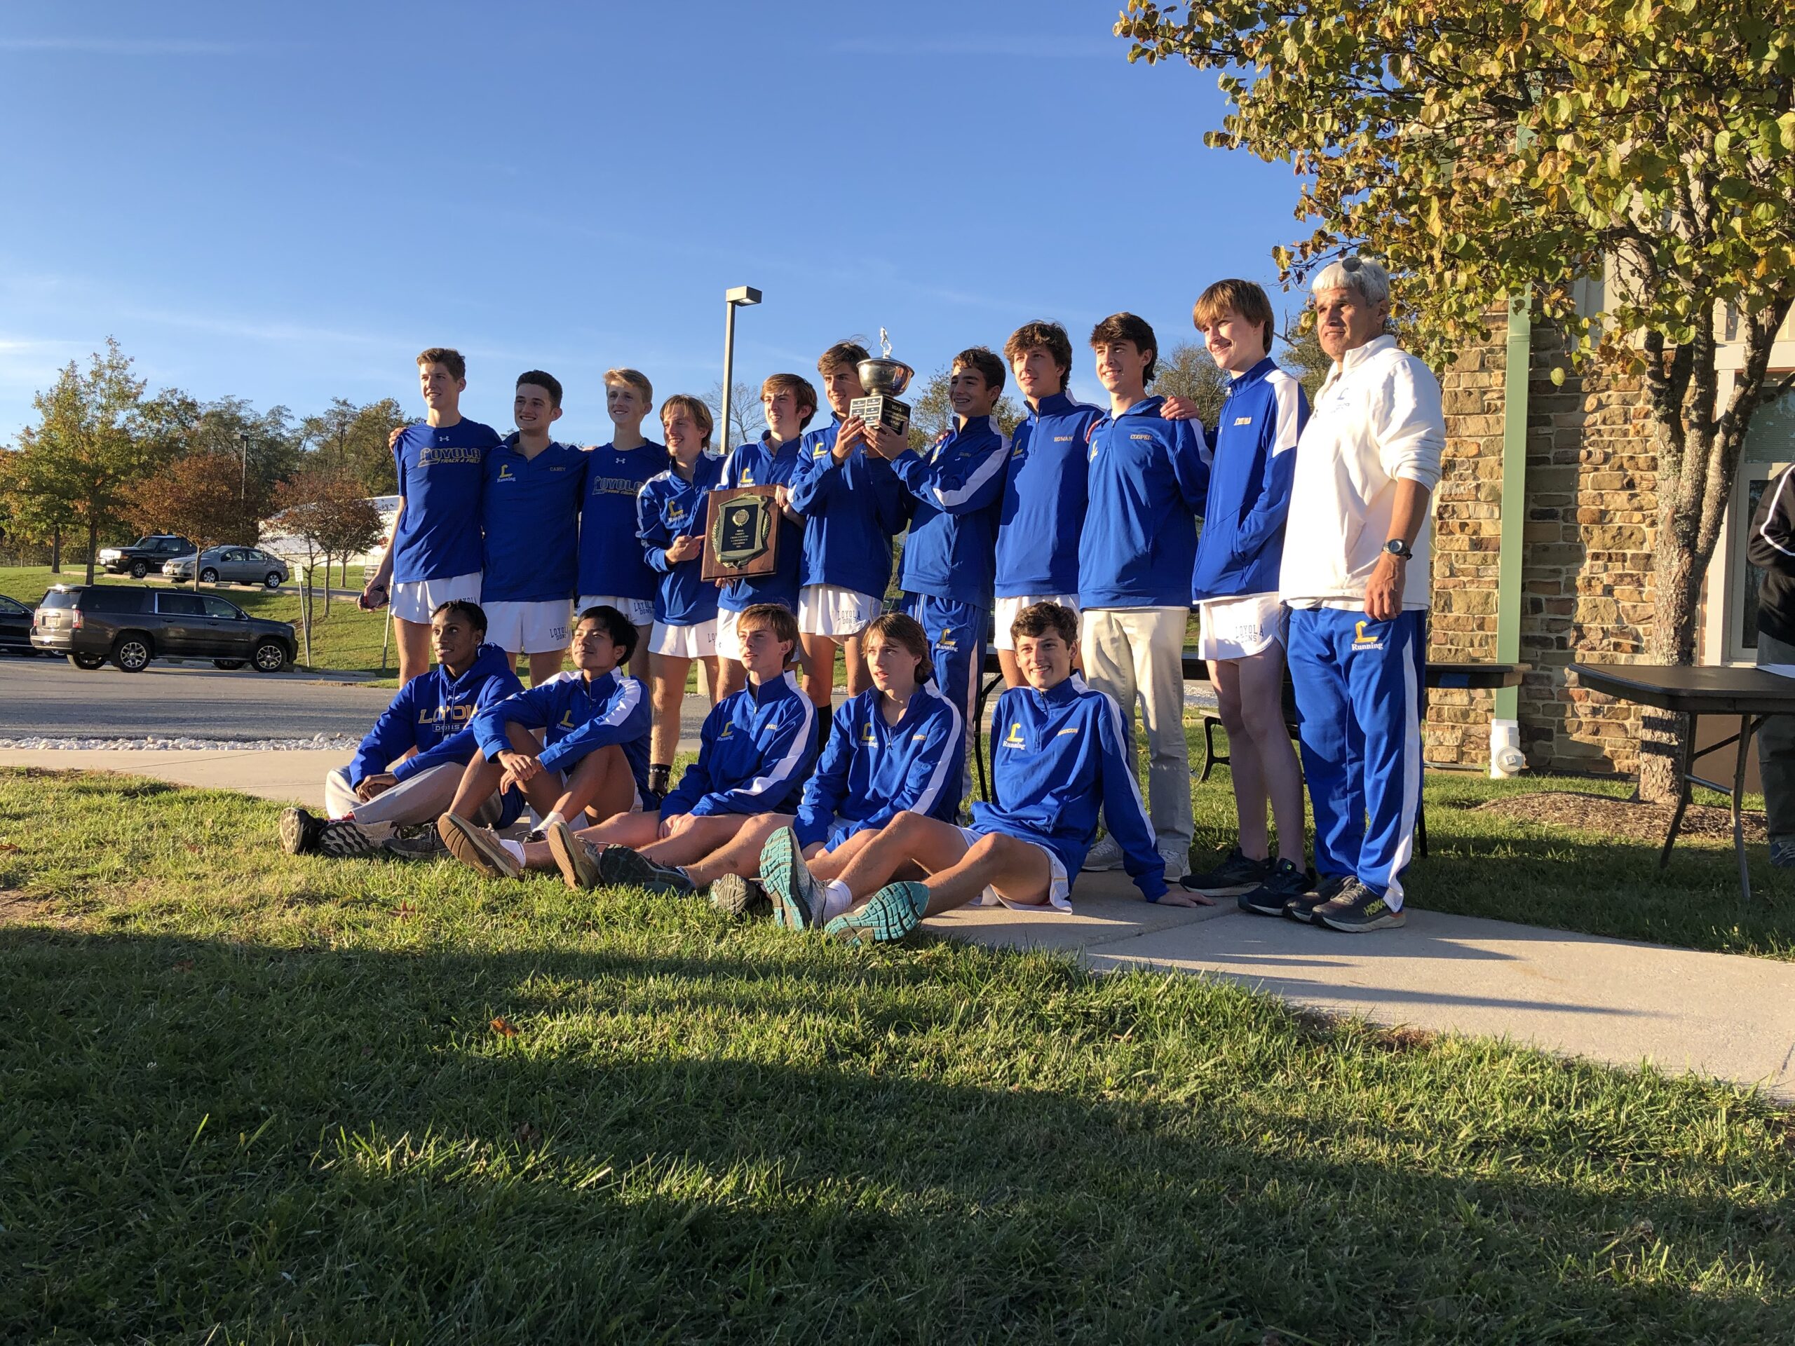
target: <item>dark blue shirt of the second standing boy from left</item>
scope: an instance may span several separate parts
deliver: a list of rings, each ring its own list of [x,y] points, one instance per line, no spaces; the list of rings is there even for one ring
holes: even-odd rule
[[[524,458],[515,434],[486,454],[481,603],[546,603],[574,596],[585,459],[583,449],[553,441],[535,458]]]

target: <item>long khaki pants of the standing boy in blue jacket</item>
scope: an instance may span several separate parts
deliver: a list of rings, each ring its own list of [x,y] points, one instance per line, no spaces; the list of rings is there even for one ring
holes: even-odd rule
[[[1160,849],[1190,851],[1190,747],[1185,743],[1186,608],[1086,608],[1084,680],[1122,707],[1134,752],[1134,700],[1147,741],[1147,817]],[[1136,757],[1138,761],[1138,757]]]

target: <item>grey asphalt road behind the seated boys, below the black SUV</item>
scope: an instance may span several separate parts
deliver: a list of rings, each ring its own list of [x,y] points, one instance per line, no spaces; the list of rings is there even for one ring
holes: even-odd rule
[[[0,738],[361,738],[386,704],[386,687],[318,682],[311,673],[224,673],[156,660],[142,673],[111,664],[84,673],[66,659],[0,657]],[[687,696],[680,748],[696,752],[709,707]]]

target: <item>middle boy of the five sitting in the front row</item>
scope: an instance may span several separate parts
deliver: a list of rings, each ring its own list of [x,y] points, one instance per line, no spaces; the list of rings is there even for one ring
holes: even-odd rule
[[[727,845],[756,815],[790,811],[817,756],[817,707],[788,671],[799,650],[797,617],[775,603],[757,603],[741,614],[736,630],[749,686],[711,707],[698,736],[698,761],[657,813],[617,809],[580,833],[565,818],[549,817],[542,826],[546,842],[522,845],[465,827],[456,858],[494,879],[560,869],[580,888],[661,887],[666,869]]]

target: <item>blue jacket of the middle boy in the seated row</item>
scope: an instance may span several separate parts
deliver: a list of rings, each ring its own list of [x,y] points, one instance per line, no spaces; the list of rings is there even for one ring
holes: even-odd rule
[[[790,813],[817,761],[817,707],[795,673],[725,696],[698,730],[698,761],[661,804],[680,813]]]

